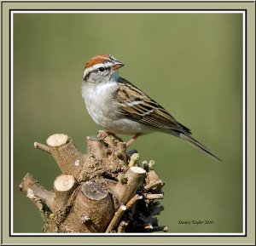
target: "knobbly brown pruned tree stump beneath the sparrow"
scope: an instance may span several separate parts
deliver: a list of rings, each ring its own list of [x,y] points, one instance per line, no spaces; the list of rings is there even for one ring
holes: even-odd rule
[[[34,146],[49,153],[61,174],[47,191],[32,174],[20,183],[43,215],[43,232],[167,232],[155,217],[164,209],[164,182],[154,161],[139,163],[114,134],[87,137],[87,153],[79,152],[67,134],[53,134]]]

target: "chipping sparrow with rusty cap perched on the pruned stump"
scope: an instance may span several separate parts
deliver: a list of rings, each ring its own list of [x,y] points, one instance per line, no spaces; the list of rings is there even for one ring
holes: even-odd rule
[[[126,147],[141,134],[161,131],[180,137],[220,161],[156,101],[119,77],[118,70],[122,66],[124,64],[112,55],[99,54],[84,67],[82,96],[90,117],[98,125],[113,134],[133,134]]]

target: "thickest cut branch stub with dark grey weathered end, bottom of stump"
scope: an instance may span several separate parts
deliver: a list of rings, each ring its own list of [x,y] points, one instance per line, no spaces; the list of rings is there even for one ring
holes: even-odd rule
[[[104,232],[113,214],[113,202],[104,186],[86,181],[79,187],[73,209],[61,224],[61,231]]]

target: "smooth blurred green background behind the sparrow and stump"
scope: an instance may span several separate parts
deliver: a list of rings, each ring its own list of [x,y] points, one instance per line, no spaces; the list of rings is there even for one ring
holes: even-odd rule
[[[160,225],[169,232],[242,232],[241,14],[15,14],[14,232],[43,226],[19,191],[26,172],[48,189],[60,174],[34,141],[66,133],[85,152],[85,137],[97,134],[80,92],[84,64],[96,54],[123,61],[122,77],[223,160],[169,134],[137,139],[130,149],[154,159],[166,183]]]

